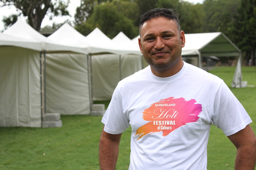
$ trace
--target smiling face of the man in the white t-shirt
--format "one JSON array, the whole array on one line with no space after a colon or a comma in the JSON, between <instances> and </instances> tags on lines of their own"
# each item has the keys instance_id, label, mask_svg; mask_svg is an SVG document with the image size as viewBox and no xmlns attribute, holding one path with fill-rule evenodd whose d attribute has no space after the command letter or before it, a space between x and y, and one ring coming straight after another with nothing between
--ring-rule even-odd
<instances>
[{"instance_id":1,"label":"smiling face of the man in the white t-shirt","mask_svg":"<svg viewBox=\"0 0 256 170\"><path fill-rule=\"evenodd\" d=\"M154 70L168 71L182 61L185 37L175 21L164 17L148 20L140 28L140 36L140 51Z\"/></svg>"}]
</instances>

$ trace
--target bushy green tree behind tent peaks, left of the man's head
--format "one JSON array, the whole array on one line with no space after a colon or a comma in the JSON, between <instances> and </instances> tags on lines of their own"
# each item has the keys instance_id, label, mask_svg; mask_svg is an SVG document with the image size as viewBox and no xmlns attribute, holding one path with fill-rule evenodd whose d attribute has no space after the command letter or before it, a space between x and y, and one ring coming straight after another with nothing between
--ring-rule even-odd
<instances>
[{"instance_id":1,"label":"bushy green tree behind tent peaks, left of the man's head","mask_svg":"<svg viewBox=\"0 0 256 170\"><path fill-rule=\"evenodd\" d=\"M88 35L92 30L98 27L110 38L114 38L120 31L129 38L134 38L139 34L138 26L134 26L134 21L124 16L125 14L129 15L129 12L125 11L132 9L129 8L123 11L121 7L124 6L119 3L112 1L96 5L87 21L75 25L75 29L83 35ZM128 7L134 6L131 5L127 6L127 8Z\"/></svg>"}]
</instances>

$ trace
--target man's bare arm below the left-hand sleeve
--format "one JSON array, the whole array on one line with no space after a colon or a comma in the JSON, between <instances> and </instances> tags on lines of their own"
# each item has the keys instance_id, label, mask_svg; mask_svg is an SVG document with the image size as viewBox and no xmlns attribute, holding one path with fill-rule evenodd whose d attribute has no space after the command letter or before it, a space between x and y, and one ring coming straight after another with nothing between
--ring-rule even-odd
<instances>
[{"instance_id":1,"label":"man's bare arm below the left-hand sleeve","mask_svg":"<svg viewBox=\"0 0 256 170\"><path fill-rule=\"evenodd\" d=\"M116 169L116 162L119 152L119 142L121 139L121 135L121 133L117 135L109 134L102 130L99 139L100 170Z\"/></svg>"}]
</instances>

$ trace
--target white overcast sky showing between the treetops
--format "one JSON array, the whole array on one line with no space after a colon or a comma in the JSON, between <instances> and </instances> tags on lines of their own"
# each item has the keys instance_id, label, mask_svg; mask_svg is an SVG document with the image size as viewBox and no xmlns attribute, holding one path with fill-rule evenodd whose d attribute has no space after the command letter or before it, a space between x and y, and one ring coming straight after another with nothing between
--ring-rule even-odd
<instances>
[{"instance_id":1,"label":"white overcast sky showing between the treetops","mask_svg":"<svg viewBox=\"0 0 256 170\"><path fill-rule=\"evenodd\" d=\"M203 0L186 0L186 1L192 2L194 4L203 2ZM2 5L1 2L0 2L0 5ZM42 21L41 27L45 27L46 25L52 25L53 22L55 22L56 24L61 23L61 22L64 22L65 20L67 20L67 19L73 21L74 20L74 15L75 15L75 10L76 10L76 7L78 7L78 6L80 6L80 0L70 1L68 10L69 10L69 13L72 15L72 17L67 17L67 16L54 17L53 20L50 21L49 17L45 16L45 18ZM2 31L4 29L4 24L2 22L3 17L4 16L8 17L9 15L16 14L16 13L17 13L17 11L16 11L16 8L14 6L10 6L10 7L5 6L5 7L0 8L0 20L1 20L0 21L0 31ZM23 20L24 20L24 18L23 18Z\"/></svg>"}]
</instances>

